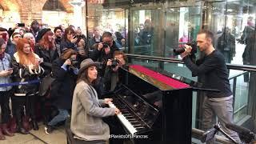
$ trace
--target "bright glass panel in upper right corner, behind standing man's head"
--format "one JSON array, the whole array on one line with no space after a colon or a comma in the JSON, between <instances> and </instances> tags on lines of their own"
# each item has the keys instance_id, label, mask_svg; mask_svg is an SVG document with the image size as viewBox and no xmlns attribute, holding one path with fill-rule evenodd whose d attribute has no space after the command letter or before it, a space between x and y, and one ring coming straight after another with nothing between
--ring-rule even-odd
<instances>
[{"instance_id":1,"label":"bright glass panel in upper right corner, behind standing man's head","mask_svg":"<svg viewBox=\"0 0 256 144\"><path fill-rule=\"evenodd\" d=\"M214 46L227 63L255 65L255 7L253 1L214 2L209 4L210 30Z\"/></svg>"}]
</instances>

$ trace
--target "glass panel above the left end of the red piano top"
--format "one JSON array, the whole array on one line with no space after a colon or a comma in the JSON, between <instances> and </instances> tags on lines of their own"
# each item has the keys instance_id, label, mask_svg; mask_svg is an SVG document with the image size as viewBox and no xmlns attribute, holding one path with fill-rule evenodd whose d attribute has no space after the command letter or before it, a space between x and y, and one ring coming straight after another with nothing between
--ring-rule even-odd
<instances>
[{"instance_id":1,"label":"glass panel above the left end of the red piano top","mask_svg":"<svg viewBox=\"0 0 256 144\"><path fill-rule=\"evenodd\" d=\"M160 56L161 18L159 9L132 10L130 53Z\"/></svg>"}]
</instances>

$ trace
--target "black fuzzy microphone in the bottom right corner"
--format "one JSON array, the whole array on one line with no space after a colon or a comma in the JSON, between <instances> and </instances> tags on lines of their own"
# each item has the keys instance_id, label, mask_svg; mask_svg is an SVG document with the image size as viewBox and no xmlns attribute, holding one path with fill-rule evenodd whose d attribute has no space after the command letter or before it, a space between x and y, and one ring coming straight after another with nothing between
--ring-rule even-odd
<instances>
[{"instance_id":1,"label":"black fuzzy microphone in the bottom right corner","mask_svg":"<svg viewBox=\"0 0 256 144\"><path fill-rule=\"evenodd\" d=\"M233 123L226 123L226 128L237 132L245 142L251 142L256 139L256 134L245 127L234 125Z\"/></svg>"}]
</instances>

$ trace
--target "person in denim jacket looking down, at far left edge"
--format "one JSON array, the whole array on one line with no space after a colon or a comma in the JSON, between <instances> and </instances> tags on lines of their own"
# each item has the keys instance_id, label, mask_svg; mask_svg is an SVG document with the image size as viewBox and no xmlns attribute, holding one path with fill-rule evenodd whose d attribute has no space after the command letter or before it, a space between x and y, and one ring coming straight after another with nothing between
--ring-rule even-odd
<instances>
[{"instance_id":1,"label":"person in denim jacket looking down, at far left edge","mask_svg":"<svg viewBox=\"0 0 256 144\"><path fill-rule=\"evenodd\" d=\"M11 66L11 58L9 54L5 53L6 42L0 38L0 83L11 83L11 74L13 70ZM0 106L1 106L1 126L0 126L0 140L6 139L4 135L14 136L13 133L7 127L7 123L10 121L10 107L9 99L13 94L11 91L12 86L0 87Z\"/></svg>"}]
</instances>

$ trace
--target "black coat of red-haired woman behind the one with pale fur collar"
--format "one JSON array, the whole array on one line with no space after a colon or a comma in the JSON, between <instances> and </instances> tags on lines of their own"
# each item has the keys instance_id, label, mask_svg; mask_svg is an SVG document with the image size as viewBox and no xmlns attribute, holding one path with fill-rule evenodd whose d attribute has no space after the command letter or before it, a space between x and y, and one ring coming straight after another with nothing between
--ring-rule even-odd
<instances>
[{"instance_id":1,"label":"black coat of red-haired woman behind the one with pale fur collar","mask_svg":"<svg viewBox=\"0 0 256 144\"><path fill-rule=\"evenodd\" d=\"M58 51L56 50L45 50L42 49L42 46L36 45L34 47L34 53L38 54L40 58L43 58L43 62L40 64L42 68L45 70L45 74L50 74L52 62L58 58Z\"/></svg>"}]
</instances>

